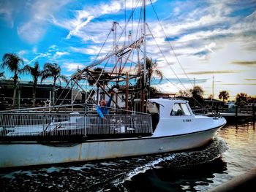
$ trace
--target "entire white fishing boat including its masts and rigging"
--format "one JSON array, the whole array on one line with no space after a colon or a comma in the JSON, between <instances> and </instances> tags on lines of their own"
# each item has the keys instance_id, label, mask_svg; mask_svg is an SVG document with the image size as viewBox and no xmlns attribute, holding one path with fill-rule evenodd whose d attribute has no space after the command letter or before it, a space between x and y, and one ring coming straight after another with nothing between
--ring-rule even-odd
<instances>
[{"instance_id":1,"label":"entire white fishing boat including its masts and rigging","mask_svg":"<svg viewBox=\"0 0 256 192\"><path fill-rule=\"evenodd\" d=\"M85 69L78 70L65 88L69 87L69 91L72 91L77 86L83 90L83 85L79 85L80 80L93 81L97 97L99 88L108 97L109 90L120 88L118 82L125 82L125 96L121 99L124 106L118 103L116 91L114 105L109 107L109 115L102 119L96 112L98 99L95 101L92 94L87 94L85 90L86 101L83 104L65 104L67 96L59 96L62 99L59 104L58 98L47 107L3 111L0 113L0 168L189 150L206 145L225 125L225 118L195 115L186 100L151 99L147 95L147 88L150 88L146 75L147 25L146 11L141 11L146 9L145 1L140 7L136 5L132 8L131 15L136 8L144 14L143 23L138 25L143 30L137 30L141 34L125 33L131 21L129 17L120 33L120 37L121 34L129 34L128 41L118 46L118 39L121 38L116 38L118 23L114 22L110 29L110 33L114 33L111 42L114 42L113 49ZM153 34L151 37L154 39ZM108 38L105 42L108 42ZM144 47L142 61L139 57L141 47ZM96 66L110 66L109 61L113 67L108 72L105 68L94 69ZM140 77L125 71L135 71L132 67L135 61L138 61ZM131 91L129 81L132 78L137 82L137 88ZM113 81L112 88L108 90L107 81Z\"/></svg>"}]
</instances>

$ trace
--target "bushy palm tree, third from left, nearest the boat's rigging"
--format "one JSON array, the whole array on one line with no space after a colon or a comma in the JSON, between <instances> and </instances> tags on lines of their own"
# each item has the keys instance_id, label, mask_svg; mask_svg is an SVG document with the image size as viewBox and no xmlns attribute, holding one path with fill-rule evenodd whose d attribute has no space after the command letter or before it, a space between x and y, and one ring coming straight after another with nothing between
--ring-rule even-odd
<instances>
[{"instance_id":1,"label":"bushy palm tree, third from left, nearest the boat's rigging","mask_svg":"<svg viewBox=\"0 0 256 192\"><path fill-rule=\"evenodd\" d=\"M58 64L46 63L44 65L44 69L42 70L41 82L48 78L53 78L53 104L55 104L56 81L59 80L59 83L61 85L61 80L63 80L64 82L68 82L68 78L65 75L61 74L61 67L58 66Z\"/></svg>"}]
</instances>

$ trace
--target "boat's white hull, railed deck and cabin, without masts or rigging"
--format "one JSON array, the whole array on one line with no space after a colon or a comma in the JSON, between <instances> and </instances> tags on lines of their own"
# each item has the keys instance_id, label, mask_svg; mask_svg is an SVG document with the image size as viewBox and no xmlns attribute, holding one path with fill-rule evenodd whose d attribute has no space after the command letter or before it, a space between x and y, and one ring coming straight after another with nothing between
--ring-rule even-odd
<instances>
[{"instance_id":1,"label":"boat's white hull, railed deck and cabin, without masts or rigging","mask_svg":"<svg viewBox=\"0 0 256 192\"><path fill-rule=\"evenodd\" d=\"M148 99L148 113L2 113L0 167L60 164L189 150L206 145L225 118L194 115L185 100Z\"/></svg>"}]
</instances>

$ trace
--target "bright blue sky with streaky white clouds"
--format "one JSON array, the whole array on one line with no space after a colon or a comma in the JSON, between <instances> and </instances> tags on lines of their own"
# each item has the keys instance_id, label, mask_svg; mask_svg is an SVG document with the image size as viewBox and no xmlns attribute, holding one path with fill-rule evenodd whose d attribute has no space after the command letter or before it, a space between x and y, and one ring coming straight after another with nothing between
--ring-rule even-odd
<instances>
[{"instance_id":1,"label":"bright blue sky with streaky white clouds","mask_svg":"<svg viewBox=\"0 0 256 192\"><path fill-rule=\"evenodd\" d=\"M16 53L25 65L38 61L41 69L57 63L70 76L110 52L112 34L105 40L113 22L121 31L136 7L135 23L140 5L136 0L1 0L0 57ZM241 92L256 96L255 0L146 1L146 23L146 55L165 77L152 82L160 91L176 93L195 84L205 97L217 98L224 90L230 99ZM129 31L135 38L135 24L127 24Z\"/></svg>"}]
</instances>

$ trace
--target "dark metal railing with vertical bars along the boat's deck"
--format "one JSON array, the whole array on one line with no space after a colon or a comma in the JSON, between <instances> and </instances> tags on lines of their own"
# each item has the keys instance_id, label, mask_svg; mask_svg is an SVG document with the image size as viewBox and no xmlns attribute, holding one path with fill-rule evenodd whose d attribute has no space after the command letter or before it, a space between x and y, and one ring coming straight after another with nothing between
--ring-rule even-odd
<instances>
[{"instance_id":1,"label":"dark metal railing with vertical bars along the boat's deck","mask_svg":"<svg viewBox=\"0 0 256 192\"><path fill-rule=\"evenodd\" d=\"M151 134L151 116L97 114L31 113L15 112L0 114L0 141L7 138L40 137L59 138L72 136L111 136L118 134Z\"/></svg>"}]
</instances>

